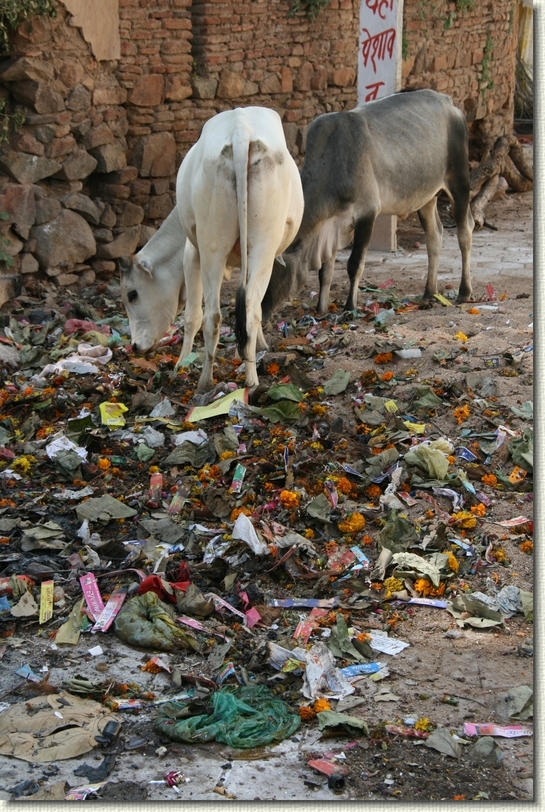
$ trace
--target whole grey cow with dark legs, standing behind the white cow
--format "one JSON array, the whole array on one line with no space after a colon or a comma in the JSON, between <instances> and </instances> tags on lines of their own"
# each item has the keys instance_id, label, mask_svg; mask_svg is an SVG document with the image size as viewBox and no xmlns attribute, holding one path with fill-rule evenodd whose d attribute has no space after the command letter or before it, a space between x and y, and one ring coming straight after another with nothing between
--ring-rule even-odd
<instances>
[{"instance_id":1,"label":"whole grey cow with dark legs, standing behind the white cow","mask_svg":"<svg viewBox=\"0 0 545 812\"><path fill-rule=\"evenodd\" d=\"M433 90L398 93L345 113L318 116L308 130L301 172L305 211L299 232L275 262L263 318L319 271L318 312L327 310L337 250L353 241L346 310L357 307L358 283L379 214L416 211L426 234L424 298L437 293L443 226L437 194L450 198L462 253L458 301L471 295L473 216L469 208L468 134L463 113Z\"/></svg>"}]
</instances>

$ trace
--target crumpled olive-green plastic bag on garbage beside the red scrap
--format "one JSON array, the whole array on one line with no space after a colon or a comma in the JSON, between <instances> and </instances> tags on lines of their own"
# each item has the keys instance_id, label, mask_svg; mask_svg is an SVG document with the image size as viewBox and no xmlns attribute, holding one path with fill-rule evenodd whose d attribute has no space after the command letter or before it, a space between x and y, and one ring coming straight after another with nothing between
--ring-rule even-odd
<instances>
[{"instance_id":1,"label":"crumpled olive-green plastic bag on garbage beside the red scrap","mask_svg":"<svg viewBox=\"0 0 545 812\"><path fill-rule=\"evenodd\" d=\"M174 611L161 603L154 592L146 592L129 601L115 620L115 633L130 646L172 651L198 644L175 621Z\"/></svg>"}]
</instances>

